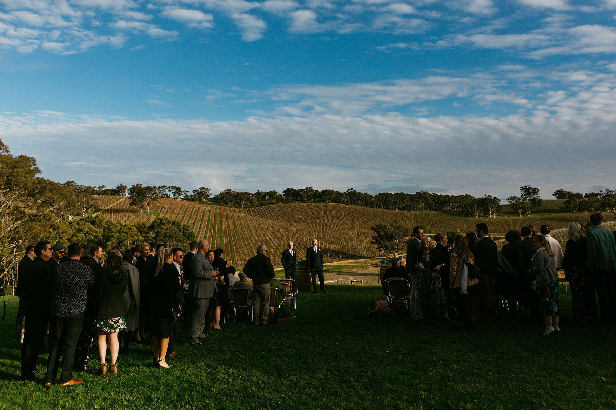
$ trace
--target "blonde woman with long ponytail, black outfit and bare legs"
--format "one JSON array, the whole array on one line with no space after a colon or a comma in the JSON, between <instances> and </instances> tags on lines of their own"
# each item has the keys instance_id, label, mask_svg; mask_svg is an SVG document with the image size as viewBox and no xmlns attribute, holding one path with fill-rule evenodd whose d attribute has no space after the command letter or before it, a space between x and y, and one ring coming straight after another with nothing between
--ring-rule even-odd
<instances>
[{"instance_id":1,"label":"blonde woman with long ponytail, black outfit and bare legs","mask_svg":"<svg viewBox=\"0 0 616 410\"><path fill-rule=\"evenodd\" d=\"M173 254L166 247L159 249L156 257L158 266L152 286L152 321L150 333L154 345L152 364L156 368L169 368L165 361L169 337L174 336L174 322L180 312L178 294L182 284L177 278L177 269L171 263Z\"/></svg>"}]
</instances>

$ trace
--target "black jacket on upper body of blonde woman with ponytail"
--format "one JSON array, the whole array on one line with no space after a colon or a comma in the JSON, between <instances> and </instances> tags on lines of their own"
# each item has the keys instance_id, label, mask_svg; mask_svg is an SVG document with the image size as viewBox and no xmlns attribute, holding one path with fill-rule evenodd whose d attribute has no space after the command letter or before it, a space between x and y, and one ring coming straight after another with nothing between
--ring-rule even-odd
<instances>
[{"instance_id":1,"label":"black jacket on upper body of blonde woman with ponytail","mask_svg":"<svg viewBox=\"0 0 616 410\"><path fill-rule=\"evenodd\" d=\"M179 312L179 292L182 290L177 280L177 269L173 263L165 263L155 276L152 284L152 316L155 318L173 317L171 311Z\"/></svg>"}]
</instances>

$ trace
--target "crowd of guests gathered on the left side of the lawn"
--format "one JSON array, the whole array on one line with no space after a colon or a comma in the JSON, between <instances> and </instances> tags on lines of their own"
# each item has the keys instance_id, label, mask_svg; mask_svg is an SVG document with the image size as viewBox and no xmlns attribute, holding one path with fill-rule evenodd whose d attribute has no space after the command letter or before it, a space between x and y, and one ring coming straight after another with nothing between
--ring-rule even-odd
<instances>
[{"instance_id":1,"label":"crowd of guests gathered on the left side of the lawn","mask_svg":"<svg viewBox=\"0 0 616 410\"><path fill-rule=\"evenodd\" d=\"M257 247L238 276L235 267L227 267L223 249L209 249L205 239L189 247L184 255L180 248L142 243L123 254L111 251L103 264L97 245L89 255L79 244L28 246L18 264L15 292L22 380L40 379L47 386L81 383L73 379L73 370L91 369L94 340L100 374L118 372L118 355L129 353L131 340L151 343L152 365L169 368L166 360L177 355L174 343L182 325L190 344L200 344L211 329L221 329L221 308L228 318L235 314L233 289L251 289L254 299L247 304L254 305L254 322L268 323L270 286L285 287L274 279L266 246ZM35 374L46 336L47 371Z\"/></svg>"}]
</instances>

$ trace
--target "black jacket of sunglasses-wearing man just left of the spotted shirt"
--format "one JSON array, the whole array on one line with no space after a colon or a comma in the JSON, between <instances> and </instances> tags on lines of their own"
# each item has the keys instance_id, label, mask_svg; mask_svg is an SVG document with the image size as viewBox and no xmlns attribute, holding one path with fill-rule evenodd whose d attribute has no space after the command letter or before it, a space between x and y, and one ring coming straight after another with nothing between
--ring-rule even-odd
<instances>
[{"instance_id":1,"label":"black jacket of sunglasses-wearing man just left of the spotted shirt","mask_svg":"<svg viewBox=\"0 0 616 410\"><path fill-rule=\"evenodd\" d=\"M26 320L28 315L49 315L54 283L49 265L41 257L36 257L28 264L25 289Z\"/></svg>"}]
</instances>

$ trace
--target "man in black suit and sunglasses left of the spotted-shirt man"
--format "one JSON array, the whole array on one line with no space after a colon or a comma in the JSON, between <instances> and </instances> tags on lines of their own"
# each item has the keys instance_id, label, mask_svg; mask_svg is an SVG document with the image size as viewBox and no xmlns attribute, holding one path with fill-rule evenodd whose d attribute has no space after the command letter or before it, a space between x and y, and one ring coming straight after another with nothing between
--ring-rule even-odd
<instances>
[{"instance_id":1,"label":"man in black suit and sunglasses left of the spotted-shirt man","mask_svg":"<svg viewBox=\"0 0 616 410\"><path fill-rule=\"evenodd\" d=\"M51 313L52 278L47 261L51 259L51 244L41 241L34 247L36 259L30 262L26 271L23 294L26 297L26 326L22 345L22 380L42 379L35 375L47 323Z\"/></svg>"}]
</instances>

